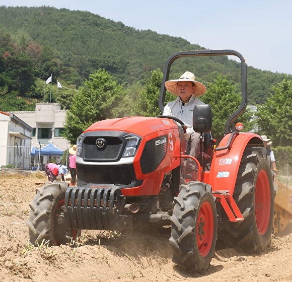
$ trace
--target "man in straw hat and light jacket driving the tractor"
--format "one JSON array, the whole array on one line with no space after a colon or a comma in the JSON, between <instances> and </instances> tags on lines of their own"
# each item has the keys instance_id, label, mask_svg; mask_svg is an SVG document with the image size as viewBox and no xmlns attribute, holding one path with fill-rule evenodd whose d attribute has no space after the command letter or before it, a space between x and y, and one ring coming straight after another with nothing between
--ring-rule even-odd
<instances>
[{"instance_id":1,"label":"man in straw hat and light jacket driving the tractor","mask_svg":"<svg viewBox=\"0 0 292 282\"><path fill-rule=\"evenodd\" d=\"M177 99L167 103L164 108L164 115L171 115L180 119L188 128L185 133L187 140L186 155L197 158L200 153L200 133L193 129L193 110L194 106L204 104L197 97L206 92L206 87L196 81L195 75L185 72L177 80L165 82L166 89L177 96Z\"/></svg>"}]
</instances>

